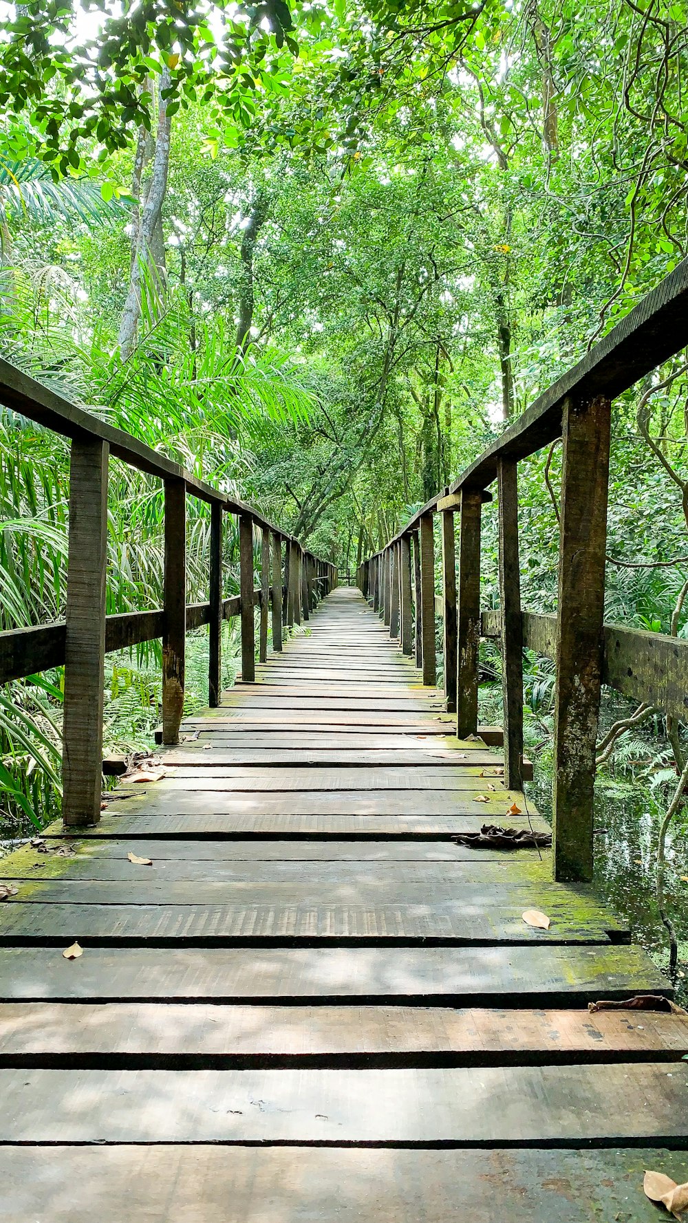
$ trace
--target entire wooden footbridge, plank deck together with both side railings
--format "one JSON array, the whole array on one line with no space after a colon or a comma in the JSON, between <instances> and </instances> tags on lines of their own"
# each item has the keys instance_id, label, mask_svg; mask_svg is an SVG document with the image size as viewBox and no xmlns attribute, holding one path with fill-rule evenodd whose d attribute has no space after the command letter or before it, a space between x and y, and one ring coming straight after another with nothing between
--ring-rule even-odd
<instances>
[{"instance_id":1,"label":"entire wooden footbridge, plank deck together with both side railings","mask_svg":"<svg viewBox=\"0 0 688 1223\"><path fill-rule=\"evenodd\" d=\"M688 703L686 642L602 621L611 397L684 345L687 305L682 265L361 565L360 589L0 369L9 406L73 439L66 623L0 635L1 680L65 664L65 824L2 862L0 1223L649 1223L643 1168L688 1178L688 1021L588 1009L672 996L589 878L601 682L675 717ZM547 618L520 608L515 465L559 434ZM109 453L165 482L164 607L126 616L105 615ZM495 479L501 612L481 615ZM187 495L213 531L192 607ZM231 615L242 676L222 693ZM211 702L182 722L202 624ZM481 632L503 651L503 758L477 725ZM104 652L157 636L160 766L103 802ZM455 839L545 832L522 786L524 645L557 659L551 854Z\"/></svg>"}]
</instances>

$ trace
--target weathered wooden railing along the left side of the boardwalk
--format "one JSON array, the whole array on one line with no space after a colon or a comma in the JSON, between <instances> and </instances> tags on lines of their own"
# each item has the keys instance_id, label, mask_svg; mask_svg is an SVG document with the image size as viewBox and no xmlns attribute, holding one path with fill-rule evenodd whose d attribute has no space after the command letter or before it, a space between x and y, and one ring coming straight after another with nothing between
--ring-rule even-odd
<instances>
[{"instance_id":1,"label":"weathered wooden railing along the left side of the boardwalk","mask_svg":"<svg viewBox=\"0 0 688 1223\"><path fill-rule=\"evenodd\" d=\"M220 698L222 623L241 618L241 678L255 680L255 607L258 658L264 662L268 613L272 643L283 626L307 620L317 599L337 585L333 564L305 550L251 505L218 492L122 429L114 428L0 361L0 402L71 438L66 619L0 632L0 682L65 667L62 813L66 824L100 818L103 670L110 651L163 640L163 742L179 742L184 707L185 634L209 625L208 692ZM164 484L163 607L105 615L108 462L115 455ZM209 600L186 604L186 497L211 506ZM222 594L223 515L239 519L240 594ZM253 585L253 533L261 532L261 586ZM283 560L284 544L284 560Z\"/></svg>"}]
</instances>

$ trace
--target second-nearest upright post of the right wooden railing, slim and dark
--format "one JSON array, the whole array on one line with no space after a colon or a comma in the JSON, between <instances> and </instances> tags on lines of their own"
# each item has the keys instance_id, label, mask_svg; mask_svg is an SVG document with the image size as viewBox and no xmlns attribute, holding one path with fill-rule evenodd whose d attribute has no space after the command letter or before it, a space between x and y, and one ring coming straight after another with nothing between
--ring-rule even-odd
<instances>
[{"instance_id":1,"label":"second-nearest upright post of the right wooden railing, slim and dark","mask_svg":"<svg viewBox=\"0 0 688 1223\"><path fill-rule=\"evenodd\" d=\"M518 476L513 459L497 459L499 497L499 603L502 607L502 692L504 785L523 789L523 620L518 547Z\"/></svg>"}]
</instances>

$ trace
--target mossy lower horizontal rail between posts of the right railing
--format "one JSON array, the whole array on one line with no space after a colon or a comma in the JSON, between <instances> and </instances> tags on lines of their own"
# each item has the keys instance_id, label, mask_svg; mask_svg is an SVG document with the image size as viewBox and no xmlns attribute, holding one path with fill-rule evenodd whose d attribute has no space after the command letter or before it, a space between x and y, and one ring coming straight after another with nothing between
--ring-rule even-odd
<instances>
[{"instance_id":1,"label":"mossy lower horizontal rail between posts of the right railing","mask_svg":"<svg viewBox=\"0 0 688 1223\"><path fill-rule=\"evenodd\" d=\"M525 648L556 658L556 615L523 612L522 618ZM501 637L501 612L482 612L481 635ZM644 702L683 720L688 717L688 641L605 624L602 651L602 684L638 704Z\"/></svg>"}]
</instances>

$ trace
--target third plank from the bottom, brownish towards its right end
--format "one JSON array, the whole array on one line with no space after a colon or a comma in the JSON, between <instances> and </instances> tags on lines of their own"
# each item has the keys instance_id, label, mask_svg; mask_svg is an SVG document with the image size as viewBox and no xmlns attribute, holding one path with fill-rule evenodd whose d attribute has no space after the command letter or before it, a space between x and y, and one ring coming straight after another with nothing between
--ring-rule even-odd
<instances>
[{"instance_id":1,"label":"third plank from the bottom, brownish towards its right end","mask_svg":"<svg viewBox=\"0 0 688 1223\"><path fill-rule=\"evenodd\" d=\"M679 1015L436 1007L246 1007L165 1003L0 1004L0 1065L86 1069L676 1063ZM170 1065L170 1059L173 1065Z\"/></svg>"}]
</instances>

